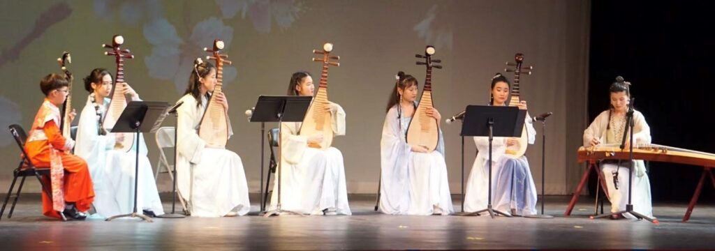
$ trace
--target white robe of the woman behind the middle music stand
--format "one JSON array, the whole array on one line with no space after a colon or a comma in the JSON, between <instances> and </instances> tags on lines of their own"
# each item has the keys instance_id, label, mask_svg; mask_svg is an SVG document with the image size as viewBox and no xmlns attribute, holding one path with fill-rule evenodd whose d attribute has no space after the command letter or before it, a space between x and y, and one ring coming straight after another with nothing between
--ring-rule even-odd
<instances>
[{"instance_id":1,"label":"white robe of the woman behind the middle music stand","mask_svg":"<svg viewBox=\"0 0 715 251\"><path fill-rule=\"evenodd\" d=\"M281 209L310 215L335 209L340 215L352 215L347 203L345 164L337 148L309 148L307 135L298 135L302 122L281 124ZM334 135L345 135L345 111L332 111ZM275 175L269 210L278 203L278 173Z\"/></svg>"}]
</instances>

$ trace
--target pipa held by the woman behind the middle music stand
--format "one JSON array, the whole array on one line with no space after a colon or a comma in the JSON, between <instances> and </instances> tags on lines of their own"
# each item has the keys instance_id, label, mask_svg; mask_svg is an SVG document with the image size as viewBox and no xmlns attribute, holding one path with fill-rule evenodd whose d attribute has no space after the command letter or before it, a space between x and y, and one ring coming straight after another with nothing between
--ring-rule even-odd
<instances>
[{"instance_id":1,"label":"pipa held by the woman behind the middle music stand","mask_svg":"<svg viewBox=\"0 0 715 251\"><path fill-rule=\"evenodd\" d=\"M305 113L303 123L300 125L299 135L313 135L322 133L322 141L320 143L308 143L308 147L325 150L332 145L334 133L332 131L332 113L327 110L329 103L327 101L327 68L329 66L340 66L340 63L333 60L339 60L340 56L330 56L332 51L332 43L325 43L323 51L313 50L313 53L322 55L322 58L313 58L313 61L322 62L322 72L320 73L320 83L317 87L317 93L313 98L308 111Z\"/></svg>"}]
</instances>

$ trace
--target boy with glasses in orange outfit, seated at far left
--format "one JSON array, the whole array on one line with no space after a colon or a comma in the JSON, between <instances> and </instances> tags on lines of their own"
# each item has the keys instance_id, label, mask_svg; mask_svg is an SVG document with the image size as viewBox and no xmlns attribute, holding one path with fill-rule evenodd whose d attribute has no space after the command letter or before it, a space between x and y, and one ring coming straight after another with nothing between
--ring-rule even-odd
<instances>
[{"instance_id":1,"label":"boy with glasses in orange outfit, seated at far left","mask_svg":"<svg viewBox=\"0 0 715 251\"><path fill-rule=\"evenodd\" d=\"M50 198L42 193L43 214L59 218L58 212L62 212L67 217L84 220L94 200L92 178L87 162L69 153L74 140L64 138L59 130L59 106L69 94L68 86L66 78L56 73L42 78L40 89L45 99L30 128L25 150L33 165L50 168L51 177L44 177L43 183L52 195ZM74 111L70 117L74 119Z\"/></svg>"}]
</instances>

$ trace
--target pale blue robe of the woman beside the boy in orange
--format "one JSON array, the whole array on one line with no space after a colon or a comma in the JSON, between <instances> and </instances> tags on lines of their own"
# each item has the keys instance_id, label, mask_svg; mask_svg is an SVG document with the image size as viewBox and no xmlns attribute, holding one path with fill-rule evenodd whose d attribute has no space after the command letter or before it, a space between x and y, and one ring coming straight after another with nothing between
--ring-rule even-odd
<instances>
[{"instance_id":1,"label":"pale blue robe of the woman beside the boy in orange","mask_svg":"<svg viewBox=\"0 0 715 251\"><path fill-rule=\"evenodd\" d=\"M99 106L102 114L106 112L109 99ZM137 142L134 133L134 145L129 152L114 150L114 133L99 135L97 112L88 98L79 116L77 124L77 144L74 153L87 160L89 175L94 183L94 209L102 217L122 215L134 211L134 175L137 160ZM139 134L139 180L137 180L137 210L152 210L156 215L164 214L162 201L159 199L157 183L154 181L152 164L147 158L147 145L144 135Z\"/></svg>"}]
</instances>

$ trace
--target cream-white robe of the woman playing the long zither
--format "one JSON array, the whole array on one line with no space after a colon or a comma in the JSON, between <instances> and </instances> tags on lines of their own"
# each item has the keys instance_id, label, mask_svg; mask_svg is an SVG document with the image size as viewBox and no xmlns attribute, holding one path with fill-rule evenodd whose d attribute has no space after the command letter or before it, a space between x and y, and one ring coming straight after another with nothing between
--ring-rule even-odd
<instances>
[{"instance_id":1,"label":"cream-white robe of the woman playing the long zither","mask_svg":"<svg viewBox=\"0 0 715 251\"><path fill-rule=\"evenodd\" d=\"M648 123L646 123L646 118L643 116L643 113L634 111L633 121L633 142L636 144L651 143L651 128L648 126ZM608 138L607 133L613 130L613 128L606 130L608 123L608 111L603 111L593 120L593 123L583 131L583 146L591 146L591 140L593 140L593 138L598 138L601 143L620 145L620 139L617 140L618 142L606 142ZM628 128L625 128L625 130L630 133ZM651 182L646 173L646 165L643 160L633 160L633 163L635 164L635 168L633 168L633 210L648 217L653 217ZM618 189L616 189L613 184L613 173L615 170L618 170ZM626 210L626 204L628 203L628 160L621 161L620 168L618 168L618 161L603 161L601 162L601 172L603 172L603 179L606 180L608 199L611 200L611 212ZM636 218L630 213L623 214L623 216L629 219Z\"/></svg>"}]
</instances>

